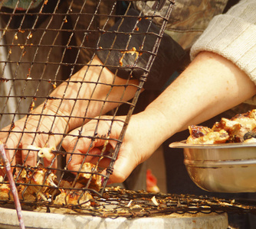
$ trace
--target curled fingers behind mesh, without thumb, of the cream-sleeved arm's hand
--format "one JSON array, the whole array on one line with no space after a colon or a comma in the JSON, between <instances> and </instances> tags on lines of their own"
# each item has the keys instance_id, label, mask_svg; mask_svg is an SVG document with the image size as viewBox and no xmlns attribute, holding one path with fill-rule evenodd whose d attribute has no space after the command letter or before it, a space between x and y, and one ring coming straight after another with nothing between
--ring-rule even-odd
<instances>
[{"instance_id":1,"label":"curled fingers behind mesh, without thumb, of the cream-sleeved arm's hand","mask_svg":"<svg viewBox=\"0 0 256 229\"><path fill-rule=\"evenodd\" d=\"M110 131L111 124L112 129ZM84 124L82 128L71 131L62 142L62 147L68 153L76 153L72 156L67 155L67 167L79 169L80 164L84 162L107 167L110 164L110 158L107 158L107 154L113 152L116 147L117 140L114 139L118 139L120 130L120 124L113 124L106 118L105 121L100 122L97 120L90 121ZM95 134L96 131L97 135Z\"/></svg>"}]
</instances>

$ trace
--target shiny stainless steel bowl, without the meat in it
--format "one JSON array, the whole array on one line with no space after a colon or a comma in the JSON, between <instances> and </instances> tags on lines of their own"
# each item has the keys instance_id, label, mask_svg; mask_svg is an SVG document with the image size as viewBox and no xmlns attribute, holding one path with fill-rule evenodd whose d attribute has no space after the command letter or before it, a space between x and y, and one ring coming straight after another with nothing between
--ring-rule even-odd
<instances>
[{"instance_id":1,"label":"shiny stainless steel bowl, without the meat in it","mask_svg":"<svg viewBox=\"0 0 256 229\"><path fill-rule=\"evenodd\" d=\"M184 149L190 178L209 192L256 192L256 144L193 145L175 142Z\"/></svg>"}]
</instances>

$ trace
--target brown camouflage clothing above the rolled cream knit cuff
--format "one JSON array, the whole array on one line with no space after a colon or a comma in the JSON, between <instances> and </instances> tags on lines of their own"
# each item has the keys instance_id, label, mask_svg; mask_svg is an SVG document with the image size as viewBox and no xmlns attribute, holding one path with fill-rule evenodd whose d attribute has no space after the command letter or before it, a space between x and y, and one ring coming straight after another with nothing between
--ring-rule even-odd
<instances>
[{"instance_id":1,"label":"brown camouflage clothing above the rolled cream knit cuff","mask_svg":"<svg viewBox=\"0 0 256 229\"><path fill-rule=\"evenodd\" d=\"M166 15L169 3L160 0L159 5L162 2L166 3L162 4L157 14ZM176 0L166 27L166 34L169 34L185 50L189 50L212 18L222 14L227 3L228 0ZM153 8L156 7L156 2L138 1L135 7L146 15L150 15L154 13ZM162 19L155 18L155 23L162 24Z\"/></svg>"}]
</instances>

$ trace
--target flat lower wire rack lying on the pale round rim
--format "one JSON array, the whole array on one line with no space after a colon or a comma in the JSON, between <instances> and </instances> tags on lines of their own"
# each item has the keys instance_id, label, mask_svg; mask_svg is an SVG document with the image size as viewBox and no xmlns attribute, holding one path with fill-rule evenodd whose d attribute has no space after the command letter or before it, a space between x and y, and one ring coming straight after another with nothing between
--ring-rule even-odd
<instances>
[{"instance_id":1,"label":"flat lower wire rack lying on the pale round rim","mask_svg":"<svg viewBox=\"0 0 256 229\"><path fill-rule=\"evenodd\" d=\"M2 202L3 208L12 208L11 202ZM256 214L255 201L250 199L225 199L205 195L176 195L132 191L120 187L107 187L102 196L95 195L90 207L81 205L52 205L50 202L25 205L29 211L84 214L100 218L162 217L170 214Z\"/></svg>"}]
</instances>

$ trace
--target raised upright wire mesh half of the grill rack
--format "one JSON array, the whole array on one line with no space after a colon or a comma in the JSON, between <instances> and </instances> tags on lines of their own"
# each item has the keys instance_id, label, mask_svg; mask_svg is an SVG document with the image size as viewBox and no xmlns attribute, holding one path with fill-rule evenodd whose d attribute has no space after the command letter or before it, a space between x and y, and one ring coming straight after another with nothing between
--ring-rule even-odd
<instances>
[{"instance_id":1,"label":"raised upright wire mesh half of the grill rack","mask_svg":"<svg viewBox=\"0 0 256 229\"><path fill-rule=\"evenodd\" d=\"M147 2L152 9L149 15L146 15ZM92 195L103 195L174 2L141 1L141 13L129 15L134 4L133 1L90 0L1 2L0 133L11 155L21 203L49 205L59 198L56 205L69 206L71 198L76 198L73 206L87 208ZM136 21L129 33L120 30L127 18ZM110 30L118 20L119 26ZM139 31L137 25L143 20L148 21L149 27ZM149 30L154 20L162 22L158 33ZM107 34L115 37L110 48L101 43ZM116 46L118 34L128 37L123 49ZM130 40L138 34L143 37L141 43L129 49ZM148 37L156 40L151 50L144 48ZM97 53L102 51L107 51L105 63L95 61ZM112 51L120 53L117 66L108 62ZM132 65L123 63L125 55L133 56ZM142 55L148 55L147 63L144 67L136 66ZM115 69L111 82L105 80L110 68ZM122 83L117 82L120 69L129 70L129 76ZM133 79L135 69L141 73L139 83ZM116 91L118 96L113 96ZM127 95L129 91L133 92L132 97ZM117 114L122 105L129 108L120 120ZM110 123L107 135L98 133L103 120ZM95 121L95 126L91 134L84 136L83 124L88 121ZM119 137L112 139L110 132L114 123L122 128ZM75 127L80 127L77 134L70 134ZM67 152L61 144L68 136L77 137L77 141L73 150ZM87 153L77 153L80 139L91 141ZM91 153L100 140L105 144L97 148L97 153ZM110 147L110 140L116 142L116 147ZM48 147L53 148L49 151ZM36 153L44 154L41 149L45 148L51 158L42 160L37 156L34 159ZM80 162L75 169L69 167L74 158ZM94 158L92 164L87 164L88 158ZM107 166L101 166L103 160L107 160ZM1 201L12 201L5 174L1 184Z\"/></svg>"}]
</instances>

